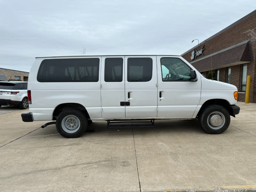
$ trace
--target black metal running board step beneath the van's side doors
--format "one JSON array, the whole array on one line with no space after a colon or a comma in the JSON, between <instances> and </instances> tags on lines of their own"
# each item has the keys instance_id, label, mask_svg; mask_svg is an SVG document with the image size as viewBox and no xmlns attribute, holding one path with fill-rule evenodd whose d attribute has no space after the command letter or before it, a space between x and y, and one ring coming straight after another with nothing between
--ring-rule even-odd
<instances>
[{"instance_id":1,"label":"black metal running board step beneath the van's side doors","mask_svg":"<svg viewBox=\"0 0 256 192\"><path fill-rule=\"evenodd\" d=\"M125 123L125 124L124 124ZM131 123L131 124L128 124ZM145 123L145 124L144 124ZM146 120L107 120L107 127L113 128L113 127L154 127L155 126L155 120L149 119Z\"/></svg>"}]
</instances>

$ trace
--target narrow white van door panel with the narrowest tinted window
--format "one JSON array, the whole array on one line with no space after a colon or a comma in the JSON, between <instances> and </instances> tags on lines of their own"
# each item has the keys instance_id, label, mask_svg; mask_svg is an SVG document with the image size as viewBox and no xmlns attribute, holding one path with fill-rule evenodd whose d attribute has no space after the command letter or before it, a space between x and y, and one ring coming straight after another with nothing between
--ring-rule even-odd
<instances>
[{"instance_id":1,"label":"narrow white van door panel with the narrowest tinted window","mask_svg":"<svg viewBox=\"0 0 256 192\"><path fill-rule=\"evenodd\" d=\"M102 57L101 67L102 118L124 118L124 56Z\"/></svg>"}]
</instances>

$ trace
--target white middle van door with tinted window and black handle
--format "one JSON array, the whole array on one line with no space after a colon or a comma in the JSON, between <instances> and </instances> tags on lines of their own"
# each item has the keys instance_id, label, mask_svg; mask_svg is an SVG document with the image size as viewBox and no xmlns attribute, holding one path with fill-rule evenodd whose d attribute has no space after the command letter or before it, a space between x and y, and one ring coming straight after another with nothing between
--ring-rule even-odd
<instances>
[{"instance_id":1,"label":"white middle van door with tinted window and black handle","mask_svg":"<svg viewBox=\"0 0 256 192\"><path fill-rule=\"evenodd\" d=\"M156 56L125 56L125 117L157 116Z\"/></svg>"}]
</instances>

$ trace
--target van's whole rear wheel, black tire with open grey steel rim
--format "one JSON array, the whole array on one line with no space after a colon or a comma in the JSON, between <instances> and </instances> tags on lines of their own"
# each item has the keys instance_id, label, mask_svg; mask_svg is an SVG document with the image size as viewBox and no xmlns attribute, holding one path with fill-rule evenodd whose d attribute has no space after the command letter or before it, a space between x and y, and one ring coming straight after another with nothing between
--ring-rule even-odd
<instances>
[{"instance_id":1,"label":"van's whole rear wheel, black tire with open grey steel rim","mask_svg":"<svg viewBox=\"0 0 256 192\"><path fill-rule=\"evenodd\" d=\"M85 132L87 125L86 116L78 109L64 110L56 119L57 131L66 138L80 137Z\"/></svg>"}]
</instances>

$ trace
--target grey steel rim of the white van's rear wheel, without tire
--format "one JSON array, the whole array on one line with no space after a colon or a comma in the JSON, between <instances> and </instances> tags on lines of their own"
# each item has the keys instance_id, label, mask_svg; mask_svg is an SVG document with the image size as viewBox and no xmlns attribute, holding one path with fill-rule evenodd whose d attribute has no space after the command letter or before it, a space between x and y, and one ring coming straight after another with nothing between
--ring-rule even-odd
<instances>
[{"instance_id":1,"label":"grey steel rim of the white van's rear wheel, without tire","mask_svg":"<svg viewBox=\"0 0 256 192\"><path fill-rule=\"evenodd\" d=\"M80 120L74 115L68 115L62 119L61 126L65 132L74 133L80 128Z\"/></svg>"}]
</instances>

